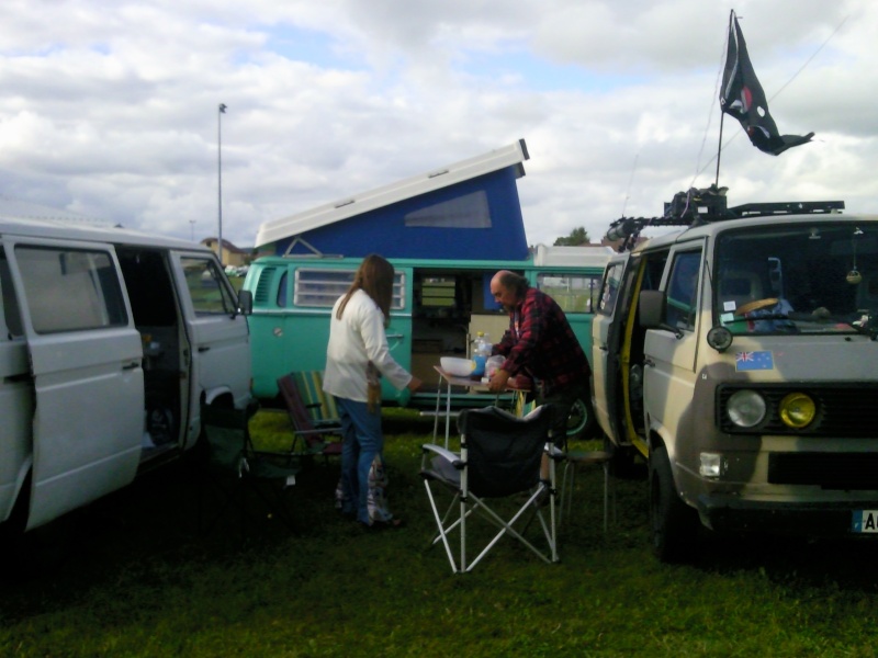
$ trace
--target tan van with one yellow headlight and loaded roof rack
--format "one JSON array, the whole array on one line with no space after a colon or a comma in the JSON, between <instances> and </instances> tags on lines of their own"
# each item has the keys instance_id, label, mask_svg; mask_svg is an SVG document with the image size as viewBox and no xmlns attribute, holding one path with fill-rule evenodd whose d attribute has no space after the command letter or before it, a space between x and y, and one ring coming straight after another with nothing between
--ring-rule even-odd
<instances>
[{"instance_id":1,"label":"tan van with one yellow headlight and loaded roof rack","mask_svg":"<svg viewBox=\"0 0 878 658\"><path fill-rule=\"evenodd\" d=\"M654 552L700 526L878 536L878 216L688 201L614 225L688 226L610 260L593 322L595 413L619 467L649 462Z\"/></svg>"}]
</instances>

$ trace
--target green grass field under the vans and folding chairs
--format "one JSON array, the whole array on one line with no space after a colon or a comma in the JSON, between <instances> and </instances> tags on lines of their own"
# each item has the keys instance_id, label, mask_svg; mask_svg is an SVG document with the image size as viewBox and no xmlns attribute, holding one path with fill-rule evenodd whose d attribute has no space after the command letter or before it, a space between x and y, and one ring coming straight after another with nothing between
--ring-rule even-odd
<instances>
[{"instance_id":1,"label":"green grass field under the vans and folding chairs","mask_svg":"<svg viewBox=\"0 0 878 658\"><path fill-rule=\"evenodd\" d=\"M196 530L199 487L179 464L27 537L0 585L3 656L874 656L870 543L706 537L691 565L649 553L646 487L619 483L601 529L603 475L577 475L562 563L510 542L452 576L428 548L417 476L432 423L389 413L401 531L362 534L333 509L338 465L290 491L297 531L258 514ZM263 444L289 439L261 411ZM259 508L254 506L254 510ZM9 563L8 563L9 564Z\"/></svg>"}]
</instances>

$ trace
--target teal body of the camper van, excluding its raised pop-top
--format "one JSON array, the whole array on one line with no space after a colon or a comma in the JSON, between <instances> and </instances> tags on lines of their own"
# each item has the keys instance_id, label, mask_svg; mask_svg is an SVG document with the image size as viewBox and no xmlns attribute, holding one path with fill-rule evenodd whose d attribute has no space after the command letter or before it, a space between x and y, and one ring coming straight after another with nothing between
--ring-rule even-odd
<instances>
[{"instance_id":1,"label":"teal body of the camper van, excluding its raised pop-top","mask_svg":"<svg viewBox=\"0 0 878 658\"><path fill-rule=\"evenodd\" d=\"M508 316L491 296L491 279L498 270L513 270L549 293L589 353L593 305L610 256L599 247L539 246L525 261L390 259L396 270L387 327L391 353L426 383L413 404L435 404L434 366L441 356L469 358L480 332L499 342L508 329ZM257 397L273 398L278 377L290 371L324 368L329 313L360 262L267 257L251 265L244 288L254 294L249 322ZM399 401L399 393L386 384L383 395L386 401Z\"/></svg>"}]
</instances>

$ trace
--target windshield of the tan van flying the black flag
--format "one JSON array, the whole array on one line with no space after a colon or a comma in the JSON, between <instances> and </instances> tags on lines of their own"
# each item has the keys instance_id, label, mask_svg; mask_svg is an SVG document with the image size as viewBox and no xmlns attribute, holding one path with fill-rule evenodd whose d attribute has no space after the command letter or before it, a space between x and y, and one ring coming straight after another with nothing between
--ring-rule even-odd
<instances>
[{"instance_id":1,"label":"windshield of the tan van flying the black flag","mask_svg":"<svg viewBox=\"0 0 878 658\"><path fill-rule=\"evenodd\" d=\"M878 226L835 219L718 239L714 321L732 333L874 333Z\"/></svg>"}]
</instances>

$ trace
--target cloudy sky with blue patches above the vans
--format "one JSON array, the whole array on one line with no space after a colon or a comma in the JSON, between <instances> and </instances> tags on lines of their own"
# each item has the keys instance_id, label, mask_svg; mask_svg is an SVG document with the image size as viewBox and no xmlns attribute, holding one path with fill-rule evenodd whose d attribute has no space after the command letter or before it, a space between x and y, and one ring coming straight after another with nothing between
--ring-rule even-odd
<instances>
[{"instance_id":1,"label":"cloudy sky with blue patches above the vans","mask_svg":"<svg viewBox=\"0 0 878 658\"><path fill-rule=\"evenodd\" d=\"M730 204L878 212L874 0L3 0L0 195L200 240L221 137L247 247L524 138L528 241L599 239L713 182L731 9L780 133L815 137L773 157L727 121Z\"/></svg>"}]
</instances>

